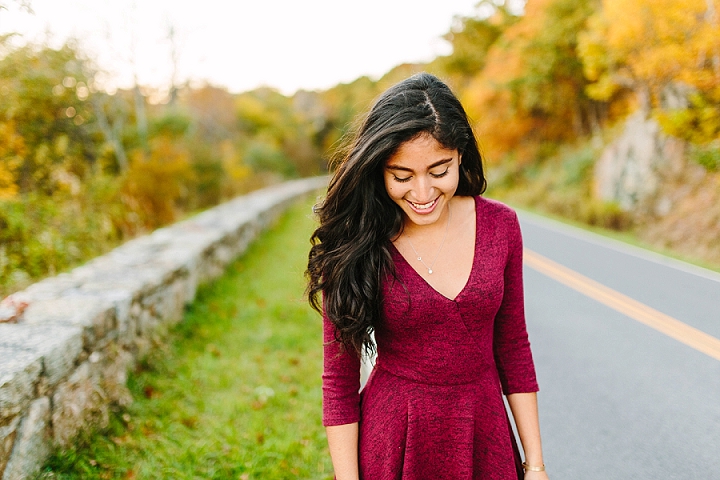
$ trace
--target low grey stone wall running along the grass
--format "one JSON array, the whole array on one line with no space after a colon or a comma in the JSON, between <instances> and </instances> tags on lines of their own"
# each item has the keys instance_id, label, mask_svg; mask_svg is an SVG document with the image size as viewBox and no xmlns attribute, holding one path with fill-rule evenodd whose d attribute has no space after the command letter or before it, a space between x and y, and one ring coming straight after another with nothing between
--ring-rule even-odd
<instances>
[{"instance_id":1,"label":"low grey stone wall running along the grass","mask_svg":"<svg viewBox=\"0 0 720 480\"><path fill-rule=\"evenodd\" d=\"M239 197L3 300L0 477L32 478L54 448L131 401L126 375L313 178ZM7 312L10 314L7 314ZM14 313L13 313L14 312Z\"/></svg>"}]
</instances>

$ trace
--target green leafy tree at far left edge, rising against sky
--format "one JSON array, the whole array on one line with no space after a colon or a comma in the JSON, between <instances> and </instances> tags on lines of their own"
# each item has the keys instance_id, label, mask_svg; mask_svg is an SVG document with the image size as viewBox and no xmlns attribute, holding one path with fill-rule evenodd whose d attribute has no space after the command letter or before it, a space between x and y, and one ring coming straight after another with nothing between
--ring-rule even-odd
<instances>
[{"instance_id":1,"label":"green leafy tree at far left edge, rising against sky","mask_svg":"<svg viewBox=\"0 0 720 480\"><path fill-rule=\"evenodd\" d=\"M28 45L0 58L0 126L22 139L15 178L21 192L51 194L68 178L88 174L98 147L89 127L88 65L73 44L57 50Z\"/></svg>"}]
</instances>

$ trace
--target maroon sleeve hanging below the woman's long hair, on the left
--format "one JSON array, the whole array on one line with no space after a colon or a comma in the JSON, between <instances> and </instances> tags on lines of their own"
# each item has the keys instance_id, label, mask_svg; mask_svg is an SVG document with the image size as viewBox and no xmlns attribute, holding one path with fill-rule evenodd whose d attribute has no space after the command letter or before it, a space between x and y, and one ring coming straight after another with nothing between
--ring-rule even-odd
<instances>
[{"instance_id":1,"label":"maroon sleeve hanging below the woman's long hair, on the left","mask_svg":"<svg viewBox=\"0 0 720 480\"><path fill-rule=\"evenodd\" d=\"M360 359L335 340L335 326L323 315L323 425L360 420Z\"/></svg>"}]
</instances>

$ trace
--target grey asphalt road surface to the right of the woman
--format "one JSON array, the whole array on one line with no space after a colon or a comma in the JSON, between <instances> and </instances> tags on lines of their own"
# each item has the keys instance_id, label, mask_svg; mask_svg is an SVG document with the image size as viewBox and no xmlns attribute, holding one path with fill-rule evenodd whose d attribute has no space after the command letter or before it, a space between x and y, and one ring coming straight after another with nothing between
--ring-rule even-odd
<instances>
[{"instance_id":1,"label":"grey asphalt road surface to the right of the woman","mask_svg":"<svg viewBox=\"0 0 720 480\"><path fill-rule=\"evenodd\" d=\"M720 339L720 275L520 220L531 253ZM720 479L719 359L528 264L525 292L551 480Z\"/></svg>"}]
</instances>

